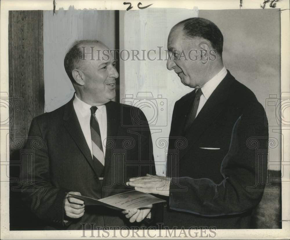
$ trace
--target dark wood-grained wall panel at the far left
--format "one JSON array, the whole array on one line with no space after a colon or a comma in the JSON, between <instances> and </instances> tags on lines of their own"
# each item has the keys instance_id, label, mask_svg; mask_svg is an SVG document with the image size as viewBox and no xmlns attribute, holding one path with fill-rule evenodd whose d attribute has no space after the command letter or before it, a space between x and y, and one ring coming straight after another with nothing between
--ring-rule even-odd
<instances>
[{"instance_id":1,"label":"dark wood-grained wall panel at the far left","mask_svg":"<svg viewBox=\"0 0 290 240\"><path fill-rule=\"evenodd\" d=\"M8 39L11 142L44 112L43 11L10 11Z\"/></svg>"}]
</instances>

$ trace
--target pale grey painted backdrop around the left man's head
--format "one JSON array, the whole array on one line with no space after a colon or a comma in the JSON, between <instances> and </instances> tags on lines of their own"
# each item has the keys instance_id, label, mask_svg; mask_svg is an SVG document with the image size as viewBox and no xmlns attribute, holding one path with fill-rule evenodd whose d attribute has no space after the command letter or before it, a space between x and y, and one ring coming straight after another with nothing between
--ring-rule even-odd
<instances>
[{"instance_id":1,"label":"pale grey painted backdrop around the left man's head","mask_svg":"<svg viewBox=\"0 0 290 240\"><path fill-rule=\"evenodd\" d=\"M115 11L44 11L44 90L45 112L67 103L75 92L64 69L64 57L77 40L97 39L115 48Z\"/></svg>"}]
</instances>

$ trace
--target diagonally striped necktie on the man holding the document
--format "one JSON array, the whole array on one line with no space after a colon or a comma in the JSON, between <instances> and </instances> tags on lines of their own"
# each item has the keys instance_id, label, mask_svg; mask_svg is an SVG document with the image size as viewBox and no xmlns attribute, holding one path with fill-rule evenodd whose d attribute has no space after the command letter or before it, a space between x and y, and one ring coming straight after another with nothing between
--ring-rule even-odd
<instances>
[{"instance_id":1,"label":"diagonally striped necktie on the man holding the document","mask_svg":"<svg viewBox=\"0 0 290 240\"><path fill-rule=\"evenodd\" d=\"M90 108L91 110L90 129L93 147L93 162L94 168L98 176L104 177L105 156L103 151L100 127L95 115L97 109L98 108L96 106L92 106Z\"/></svg>"}]
</instances>

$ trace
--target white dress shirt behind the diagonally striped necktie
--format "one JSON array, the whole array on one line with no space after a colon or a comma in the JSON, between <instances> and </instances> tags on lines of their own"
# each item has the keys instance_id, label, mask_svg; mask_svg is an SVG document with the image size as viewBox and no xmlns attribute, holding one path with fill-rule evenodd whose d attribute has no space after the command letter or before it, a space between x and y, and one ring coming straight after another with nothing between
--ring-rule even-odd
<instances>
[{"instance_id":1,"label":"white dress shirt behind the diagonally striped necktie","mask_svg":"<svg viewBox=\"0 0 290 240\"><path fill-rule=\"evenodd\" d=\"M91 132L90 132L90 116L91 116L90 108L92 106L81 101L81 99L79 99L77 95L75 95L75 99L73 100L73 107L75 108L75 113L77 114L77 119L79 120L79 124L81 125L81 130L83 131L86 142L88 144L88 147L90 148L90 152L93 157L92 137L91 137ZM100 127L104 156L106 156L105 155L106 154L106 141L104 141L107 138L106 106L101 105L101 106L97 106L97 108L98 109L95 114L96 114L96 118Z\"/></svg>"}]
</instances>

